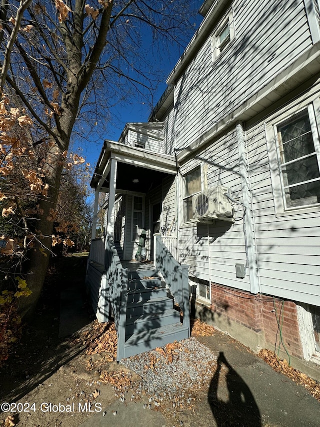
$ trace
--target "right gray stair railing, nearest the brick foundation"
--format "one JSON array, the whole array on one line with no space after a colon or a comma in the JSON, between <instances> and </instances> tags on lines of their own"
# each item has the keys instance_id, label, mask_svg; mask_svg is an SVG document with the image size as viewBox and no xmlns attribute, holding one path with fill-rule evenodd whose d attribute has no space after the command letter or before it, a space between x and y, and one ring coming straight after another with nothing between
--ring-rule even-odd
<instances>
[{"instance_id":1,"label":"right gray stair railing, nearest the brick foundation","mask_svg":"<svg viewBox=\"0 0 320 427\"><path fill-rule=\"evenodd\" d=\"M179 264L161 241L160 234L154 234L154 265L161 272L175 301L183 313L183 324L190 331L188 265Z\"/></svg>"}]
</instances>

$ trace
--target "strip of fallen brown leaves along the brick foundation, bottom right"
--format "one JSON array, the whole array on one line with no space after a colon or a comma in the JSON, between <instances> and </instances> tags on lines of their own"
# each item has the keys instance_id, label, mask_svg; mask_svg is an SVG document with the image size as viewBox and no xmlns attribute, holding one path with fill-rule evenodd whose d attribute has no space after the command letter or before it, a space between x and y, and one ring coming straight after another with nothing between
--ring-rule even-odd
<instances>
[{"instance_id":1,"label":"strip of fallen brown leaves along the brick foundation, bottom right","mask_svg":"<svg viewBox=\"0 0 320 427\"><path fill-rule=\"evenodd\" d=\"M314 379L308 377L304 373L289 366L285 359L280 359L273 351L263 348L259 351L258 356L261 357L268 365L276 372L281 372L297 384L302 384L313 397L320 401L320 384Z\"/></svg>"}]
</instances>

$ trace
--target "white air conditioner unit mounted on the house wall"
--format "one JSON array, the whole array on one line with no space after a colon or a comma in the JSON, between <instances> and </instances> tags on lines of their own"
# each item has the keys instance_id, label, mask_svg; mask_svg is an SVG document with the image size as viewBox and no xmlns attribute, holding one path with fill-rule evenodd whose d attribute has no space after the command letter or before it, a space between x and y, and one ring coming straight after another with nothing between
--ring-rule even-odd
<instances>
[{"instance_id":1,"label":"white air conditioner unit mounted on the house wall","mask_svg":"<svg viewBox=\"0 0 320 427\"><path fill-rule=\"evenodd\" d=\"M233 221L232 205L225 194L230 189L219 185L192 196L192 218L195 221L221 219Z\"/></svg>"}]
</instances>

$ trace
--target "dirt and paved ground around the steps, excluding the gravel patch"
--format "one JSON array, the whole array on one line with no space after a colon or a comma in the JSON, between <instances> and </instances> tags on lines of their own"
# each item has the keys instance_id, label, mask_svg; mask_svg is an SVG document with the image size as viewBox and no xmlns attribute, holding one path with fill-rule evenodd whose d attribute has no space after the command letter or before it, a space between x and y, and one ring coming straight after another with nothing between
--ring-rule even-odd
<instances>
[{"instance_id":1,"label":"dirt and paved ground around the steps, excluding the gravel patch","mask_svg":"<svg viewBox=\"0 0 320 427\"><path fill-rule=\"evenodd\" d=\"M11 404L11 410L15 410L11 411L11 418L8 418L8 412L0 413L1 427L77 427L85 421L88 422L87 425L91 425L90 417L98 415L100 418L93 424L102 425L98 422L101 422L104 408L110 408L116 415L117 410L114 408L121 405L121 399L126 401L126 405L133 400L137 403L136 406L141 407L142 403L143 408L150 406L150 413L153 412L154 416L157 415L155 412L164 416L164 421L158 421L158 425L167 427L317 425L317 421L313 423L312 417L304 422L301 421L306 419L304 415L294 413L294 408L301 412L298 408L300 404L303 408L309 407L310 413L318 410L320 406L306 391L305 384L298 386L289 379L290 375L293 375L290 369L284 366L287 370L286 377L276 374L270 366L240 343L198 322L193 325L193 334L197 335L199 343L207 345L210 351L216 354L217 360L214 362L214 369L212 368L213 376L203 381L203 384L190 394L191 403L183 407L173 405L175 408L172 409L171 401L170 405L163 403L156 407L153 400L149 403L149 396L137 395L136 385L141 377L114 360L116 342L113 325L97 323L90 306L85 302L81 307L73 304L74 309L81 310L80 318L71 316L70 320L70 317L60 316L60 312L63 312L60 310L60 304L72 298L74 289L84 293L85 268L86 257L77 254L63 257L51 264L35 315L32 321L24 326L22 340L15 346L10 358L0 370L0 402L16 403ZM69 292L70 283L72 292ZM63 296L62 300L60 295ZM73 332L71 336L68 334L70 331ZM161 357L166 358L165 363L170 363L172 358L174 361L174 354L178 350L177 343L157 351ZM265 358L271 360L271 355L266 353ZM154 356L149 357L149 368L155 363L154 360ZM270 364L272 363L275 364L274 360L271 360ZM269 379L271 377L272 379ZM305 378L305 382L307 381L311 380ZM218 394L214 391L217 383ZM261 390L262 383L263 387L269 387L272 383L273 390L281 396L278 403L275 395L267 397L267 392ZM316 391L317 385L312 381L310 384L312 390ZM258 399L259 410L250 389ZM236 397L236 390L241 390L246 398L249 412L243 410L241 400L231 398L231 393ZM287 394L286 398L284 394ZM53 406L50 406L49 402L53 402ZM57 402L60 406L54 406ZM6 406L2 406L2 409L5 411ZM113 419L119 422L120 418L115 416ZM107 416L103 420L106 422ZM132 425L115 422L112 424L121 427Z\"/></svg>"}]
</instances>

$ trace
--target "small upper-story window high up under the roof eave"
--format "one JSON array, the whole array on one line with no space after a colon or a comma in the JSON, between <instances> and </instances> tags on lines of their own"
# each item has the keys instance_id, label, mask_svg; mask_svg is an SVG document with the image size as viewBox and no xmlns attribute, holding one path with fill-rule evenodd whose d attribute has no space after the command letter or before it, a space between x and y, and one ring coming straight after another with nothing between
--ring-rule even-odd
<instances>
[{"instance_id":1,"label":"small upper-story window high up under the roof eave","mask_svg":"<svg viewBox=\"0 0 320 427\"><path fill-rule=\"evenodd\" d=\"M233 12L229 11L220 21L211 36L212 61L215 61L226 46L234 39Z\"/></svg>"}]
</instances>

